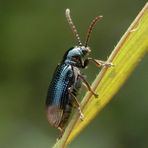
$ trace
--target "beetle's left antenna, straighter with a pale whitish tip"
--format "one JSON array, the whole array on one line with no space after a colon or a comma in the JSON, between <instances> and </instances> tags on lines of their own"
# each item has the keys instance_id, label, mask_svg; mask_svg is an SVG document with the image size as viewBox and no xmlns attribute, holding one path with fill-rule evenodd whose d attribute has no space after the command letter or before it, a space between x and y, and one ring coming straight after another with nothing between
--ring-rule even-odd
<instances>
[{"instance_id":1,"label":"beetle's left antenna, straighter with a pale whitish tip","mask_svg":"<svg viewBox=\"0 0 148 148\"><path fill-rule=\"evenodd\" d=\"M76 39L78 40L78 44L79 46L82 46L82 43L81 43L81 40L80 40L80 36L78 34L78 31L71 19L71 16L70 16L70 9L66 9L65 11L65 15L66 15L66 18L67 18L67 21L68 21L68 24L70 25L71 29L72 29L72 32L74 33L74 36L76 37Z\"/></svg>"}]
</instances>

